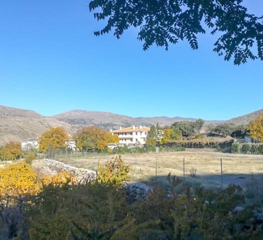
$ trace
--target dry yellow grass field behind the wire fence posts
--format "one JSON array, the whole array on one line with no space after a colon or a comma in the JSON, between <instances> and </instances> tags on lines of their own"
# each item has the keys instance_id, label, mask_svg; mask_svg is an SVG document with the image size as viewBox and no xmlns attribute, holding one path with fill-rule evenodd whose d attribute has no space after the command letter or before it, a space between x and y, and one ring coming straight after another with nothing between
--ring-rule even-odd
<instances>
[{"instance_id":1,"label":"dry yellow grass field behind the wire fence posts","mask_svg":"<svg viewBox=\"0 0 263 240\"><path fill-rule=\"evenodd\" d=\"M67 164L96 170L98 162L105 164L114 155L89 155L86 158L57 159ZM123 154L125 164L131 167L132 180L151 181L156 179L165 183L169 172L172 175L183 176L183 158L185 159L185 180L205 187L221 186L222 158L223 185L230 183L243 185L253 174L263 176L263 155L228 154L213 151L178 151L158 153ZM157 166L157 167L156 167ZM190 176L191 168L197 169L196 176Z\"/></svg>"}]
</instances>

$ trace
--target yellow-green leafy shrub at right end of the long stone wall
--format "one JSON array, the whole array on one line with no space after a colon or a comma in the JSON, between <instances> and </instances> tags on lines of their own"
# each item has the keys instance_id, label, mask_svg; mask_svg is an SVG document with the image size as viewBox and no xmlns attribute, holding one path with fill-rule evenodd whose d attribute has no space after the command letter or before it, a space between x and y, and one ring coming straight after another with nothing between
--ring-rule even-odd
<instances>
[{"instance_id":1,"label":"yellow-green leafy shrub at right end of the long stone wall","mask_svg":"<svg viewBox=\"0 0 263 240\"><path fill-rule=\"evenodd\" d=\"M98 182L106 185L122 186L123 181L128 181L130 167L124 164L121 156L113 157L105 166L98 166Z\"/></svg>"}]
</instances>

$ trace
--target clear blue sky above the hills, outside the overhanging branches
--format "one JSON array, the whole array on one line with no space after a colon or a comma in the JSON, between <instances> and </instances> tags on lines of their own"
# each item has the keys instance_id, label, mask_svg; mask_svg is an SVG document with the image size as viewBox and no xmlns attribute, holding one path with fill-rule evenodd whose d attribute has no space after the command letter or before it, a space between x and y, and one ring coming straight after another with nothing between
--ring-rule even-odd
<instances>
[{"instance_id":1,"label":"clear blue sky above the hills, outside the overhanging branches","mask_svg":"<svg viewBox=\"0 0 263 240\"><path fill-rule=\"evenodd\" d=\"M70 109L131 116L228 119L263 108L263 62L234 66L200 35L142 51L137 30L96 37L88 0L0 1L0 105L53 115ZM262 0L245 0L263 14Z\"/></svg>"}]
</instances>

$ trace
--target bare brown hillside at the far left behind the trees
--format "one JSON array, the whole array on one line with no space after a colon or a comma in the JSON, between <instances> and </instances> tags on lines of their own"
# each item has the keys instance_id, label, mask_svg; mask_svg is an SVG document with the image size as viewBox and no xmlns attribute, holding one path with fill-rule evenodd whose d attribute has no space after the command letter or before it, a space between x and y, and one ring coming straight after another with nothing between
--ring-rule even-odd
<instances>
[{"instance_id":1,"label":"bare brown hillside at the far left behind the trees","mask_svg":"<svg viewBox=\"0 0 263 240\"><path fill-rule=\"evenodd\" d=\"M32 110L0 105L0 146L8 141L20 141L39 136L54 126L62 126L70 133L75 127L52 117L45 117Z\"/></svg>"}]
</instances>

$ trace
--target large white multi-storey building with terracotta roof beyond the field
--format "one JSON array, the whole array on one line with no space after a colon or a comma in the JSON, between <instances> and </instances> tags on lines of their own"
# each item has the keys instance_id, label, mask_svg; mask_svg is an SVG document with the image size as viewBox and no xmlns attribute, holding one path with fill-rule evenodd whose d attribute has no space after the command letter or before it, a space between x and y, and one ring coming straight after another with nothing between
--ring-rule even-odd
<instances>
[{"instance_id":1,"label":"large white multi-storey building with terracotta roof beyond the field","mask_svg":"<svg viewBox=\"0 0 263 240\"><path fill-rule=\"evenodd\" d=\"M117 134L120 140L120 145L143 145L146 143L150 127L146 126L132 126L125 127L118 130L111 130L112 134Z\"/></svg>"}]
</instances>

